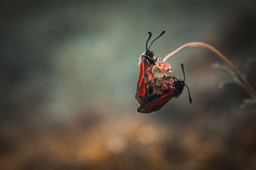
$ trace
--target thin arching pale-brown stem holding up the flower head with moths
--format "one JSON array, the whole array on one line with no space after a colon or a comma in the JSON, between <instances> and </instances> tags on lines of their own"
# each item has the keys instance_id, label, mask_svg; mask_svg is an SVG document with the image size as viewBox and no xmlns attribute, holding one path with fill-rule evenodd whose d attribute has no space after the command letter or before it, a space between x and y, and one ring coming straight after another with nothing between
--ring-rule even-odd
<instances>
[{"instance_id":1,"label":"thin arching pale-brown stem holding up the flower head with moths","mask_svg":"<svg viewBox=\"0 0 256 170\"><path fill-rule=\"evenodd\" d=\"M188 48L188 47L191 47L191 46L202 46L204 48L208 48L208 49L212 50L212 52L216 53L221 59L223 59L228 64L228 66L230 66L234 70L234 72L237 74L237 76L240 79L239 81L241 83L241 86L244 88L244 90L246 90L246 92L248 92L248 94L250 94L250 96L252 97L252 99L256 103L256 92L255 92L255 90L253 90L250 83L248 83L246 78L244 78L243 74L240 73L240 71L236 68L236 66L234 66L234 64L232 64L232 62L230 62L230 60L228 60L227 57L225 57L221 52L216 50L216 48L214 48L211 45L208 45L206 43L200 43L200 42L187 43L187 44L182 45L179 48L177 48L177 50L175 50L175 51L169 53L168 55L166 55L166 57L164 57L164 59L163 59L163 62L166 62L166 60L168 60L170 57L172 57L176 53L179 53L184 48Z\"/></svg>"}]
</instances>

